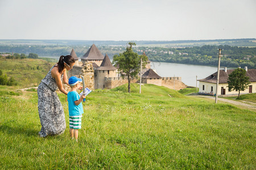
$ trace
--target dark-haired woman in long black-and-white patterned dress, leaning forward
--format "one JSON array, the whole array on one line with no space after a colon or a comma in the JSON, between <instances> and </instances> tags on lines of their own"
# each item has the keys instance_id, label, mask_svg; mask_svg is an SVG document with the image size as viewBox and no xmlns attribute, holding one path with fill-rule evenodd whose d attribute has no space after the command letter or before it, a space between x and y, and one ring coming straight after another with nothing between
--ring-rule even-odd
<instances>
[{"instance_id":1,"label":"dark-haired woman in long black-and-white patterned dress, leaning forward","mask_svg":"<svg viewBox=\"0 0 256 170\"><path fill-rule=\"evenodd\" d=\"M38 112L42 125L40 137L65 131L65 114L56 90L59 88L63 94L68 94L63 88L62 80L68 84L67 70L71 70L74 65L75 59L72 56L60 56L59 62L49 70L38 86Z\"/></svg>"}]
</instances>

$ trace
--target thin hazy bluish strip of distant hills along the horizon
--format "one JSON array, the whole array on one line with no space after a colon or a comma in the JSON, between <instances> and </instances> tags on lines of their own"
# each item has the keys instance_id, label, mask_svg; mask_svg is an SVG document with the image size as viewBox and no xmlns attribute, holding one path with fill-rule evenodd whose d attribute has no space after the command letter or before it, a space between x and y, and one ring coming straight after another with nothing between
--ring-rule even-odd
<instances>
[{"instance_id":1,"label":"thin hazy bluish strip of distant hills along the horizon","mask_svg":"<svg viewBox=\"0 0 256 170\"><path fill-rule=\"evenodd\" d=\"M131 40L132 41L132 40ZM131 41L93 41L93 40L0 40L1 45L121 45ZM220 39L220 40L175 40L175 41L132 41L138 46L203 46L230 45L256 46L256 39Z\"/></svg>"}]
</instances>

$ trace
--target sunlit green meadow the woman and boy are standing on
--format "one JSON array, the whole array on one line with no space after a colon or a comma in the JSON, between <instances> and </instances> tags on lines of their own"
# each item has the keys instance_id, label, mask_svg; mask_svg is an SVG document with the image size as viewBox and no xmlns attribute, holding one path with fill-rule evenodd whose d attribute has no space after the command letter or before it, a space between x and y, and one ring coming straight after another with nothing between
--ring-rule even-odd
<instances>
[{"instance_id":1,"label":"sunlit green meadow the woman and boy are standing on","mask_svg":"<svg viewBox=\"0 0 256 170\"><path fill-rule=\"evenodd\" d=\"M0 86L1 169L255 169L255 112L151 84L96 90L79 142L40 138L37 94ZM2 92L5 91L5 92ZM13 91L13 92L11 92ZM171 95L172 97L168 96Z\"/></svg>"}]
</instances>

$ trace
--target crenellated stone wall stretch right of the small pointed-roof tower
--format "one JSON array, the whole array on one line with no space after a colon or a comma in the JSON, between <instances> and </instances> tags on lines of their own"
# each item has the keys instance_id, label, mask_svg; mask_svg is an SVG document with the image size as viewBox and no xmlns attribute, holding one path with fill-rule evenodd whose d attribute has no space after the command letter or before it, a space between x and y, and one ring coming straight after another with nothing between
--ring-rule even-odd
<instances>
[{"instance_id":1,"label":"crenellated stone wall stretch right of the small pointed-roof tower","mask_svg":"<svg viewBox=\"0 0 256 170\"><path fill-rule=\"evenodd\" d=\"M163 77L162 86L168 87L174 90L187 88L187 85L181 82L181 77Z\"/></svg>"}]
</instances>

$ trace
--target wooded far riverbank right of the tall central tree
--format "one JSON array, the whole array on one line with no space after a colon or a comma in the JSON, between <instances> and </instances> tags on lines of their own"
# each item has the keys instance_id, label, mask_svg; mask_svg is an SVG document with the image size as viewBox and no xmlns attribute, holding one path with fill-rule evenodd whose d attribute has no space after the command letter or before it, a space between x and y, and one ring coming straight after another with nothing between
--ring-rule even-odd
<instances>
[{"instance_id":1,"label":"wooded far riverbank right of the tall central tree","mask_svg":"<svg viewBox=\"0 0 256 170\"><path fill-rule=\"evenodd\" d=\"M245 67L256 69L256 48L229 45L204 45L187 48L138 48L138 54L143 51L150 61L186 63L192 65L218 65L218 49L222 50L221 66Z\"/></svg>"}]
</instances>

